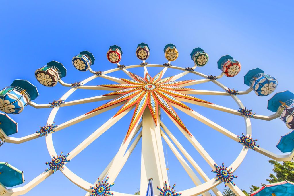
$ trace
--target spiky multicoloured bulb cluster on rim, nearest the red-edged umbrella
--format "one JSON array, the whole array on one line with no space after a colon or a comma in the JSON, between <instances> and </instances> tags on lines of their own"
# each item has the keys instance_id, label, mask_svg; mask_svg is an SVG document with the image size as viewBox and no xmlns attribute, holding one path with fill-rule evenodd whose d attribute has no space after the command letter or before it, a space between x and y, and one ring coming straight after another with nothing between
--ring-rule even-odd
<instances>
[{"instance_id":1,"label":"spiky multicoloured bulb cluster on rim, nearest the red-edged umbrella","mask_svg":"<svg viewBox=\"0 0 294 196\"><path fill-rule=\"evenodd\" d=\"M231 172L233 170L233 168L231 167L230 169L228 169L227 167L224 166L224 163L222 163L222 166L218 166L216 165L216 163L214 164L214 166L216 167L216 170L213 171L211 170L211 172L216 173L216 181L221 180L222 182L225 183L225 187L227 187L226 183L231 183L232 185L236 185L233 182L233 178L238 178L238 176L233 175Z\"/></svg>"}]
</instances>

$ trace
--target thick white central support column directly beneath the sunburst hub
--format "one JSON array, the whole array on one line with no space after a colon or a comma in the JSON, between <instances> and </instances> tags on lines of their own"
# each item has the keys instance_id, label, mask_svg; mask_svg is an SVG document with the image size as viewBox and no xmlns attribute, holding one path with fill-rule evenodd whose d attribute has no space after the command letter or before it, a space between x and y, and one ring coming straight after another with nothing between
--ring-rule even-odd
<instances>
[{"instance_id":1,"label":"thick white central support column directly beneath the sunburst hub","mask_svg":"<svg viewBox=\"0 0 294 196\"><path fill-rule=\"evenodd\" d=\"M157 122L156 126L148 108L143 113L142 121L141 195L146 194L149 178L153 178L154 193L159 195L156 187L162 188L164 182L168 182L160 124Z\"/></svg>"}]
</instances>

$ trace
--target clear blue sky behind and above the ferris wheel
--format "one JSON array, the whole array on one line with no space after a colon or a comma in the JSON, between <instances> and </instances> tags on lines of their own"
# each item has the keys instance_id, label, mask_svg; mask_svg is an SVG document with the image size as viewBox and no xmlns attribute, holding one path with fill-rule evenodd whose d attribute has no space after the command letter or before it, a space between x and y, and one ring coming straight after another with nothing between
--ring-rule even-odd
<instances>
[{"instance_id":1,"label":"clear blue sky behind and above the ferris wheel","mask_svg":"<svg viewBox=\"0 0 294 196\"><path fill-rule=\"evenodd\" d=\"M229 54L242 64L242 70L234 78L220 79L229 88L243 91L248 88L243 83L243 76L248 70L261 68L275 77L279 84L275 92L293 89L293 8L292 1L2 1L1 44L3 56L0 88L9 86L14 79L26 79L37 86L40 96L35 102L49 103L60 98L69 88L60 84L53 88L39 84L34 76L37 68L51 60L62 62L67 68L67 83L81 81L92 76L90 72L79 72L71 64L73 56L80 51L91 51L96 57L91 67L95 71L115 68L106 59L106 51L111 45L118 45L123 50L121 64L133 65L140 61L135 56L137 44L145 42L150 47L151 64L166 62L163 48L168 43L176 45L179 58L176 66L193 66L190 52L201 47L209 55L209 63L197 68L207 75L219 75L217 61L220 56ZM291 57L292 56L292 57ZM5 58L4 58L5 57ZM160 69L149 68L151 75ZM134 69L143 74L143 68ZM179 72L169 71L167 75ZM122 72L109 74L115 77L127 76ZM200 79L193 74L184 79ZM90 85L109 83L98 78ZM193 86L195 89L221 89L213 83ZM105 92L77 90L68 100L76 100L102 95ZM229 96L198 96L213 103L229 108L238 106ZM261 115L270 115L267 110L267 97L258 97L251 92L240 96L248 109ZM78 115L98 107L104 102L88 103L61 108L55 123L61 124ZM236 135L245 131L243 118L225 114L212 109L189 105L193 110L210 118ZM57 152L70 152L94 130L108 120L119 108L96 116L77 125L53 134ZM10 115L19 124L19 133L13 137L22 137L39 130L46 124L51 109L35 109L27 106L21 114ZM238 156L242 145L226 138L217 131L208 128L188 115L178 112L186 126L220 165L230 165ZM67 166L78 176L94 182L106 165L116 154L130 122L131 114L116 123L88 148L76 156ZM206 171L210 178L215 175L183 135L176 129L166 115L163 122L170 128L191 156ZM252 137L258 144L274 153L281 135L290 130L280 119L270 122L252 119ZM141 147L140 142L118 175L113 190L134 193L140 186ZM176 190L193 187L185 170L178 160L167 150L171 183L177 183ZM20 145L5 143L1 148L1 160L24 171L25 183L43 172L51 159L46 149L45 138L38 138ZM241 189L249 190L250 185L266 183L265 179L272 170L267 162L269 158L249 150L245 160L235 171L238 179L234 182ZM156 185L157 186L157 185ZM220 190L223 184L218 186ZM61 172L51 175L27 195L84 195L85 191L71 183Z\"/></svg>"}]
</instances>

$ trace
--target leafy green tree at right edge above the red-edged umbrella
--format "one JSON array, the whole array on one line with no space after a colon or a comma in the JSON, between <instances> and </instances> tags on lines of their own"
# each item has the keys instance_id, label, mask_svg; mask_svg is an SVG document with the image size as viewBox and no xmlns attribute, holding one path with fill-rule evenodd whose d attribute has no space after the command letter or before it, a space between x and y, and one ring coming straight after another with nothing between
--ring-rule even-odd
<instances>
[{"instance_id":1,"label":"leafy green tree at right edge above the red-edged umbrella","mask_svg":"<svg viewBox=\"0 0 294 196\"><path fill-rule=\"evenodd\" d=\"M284 161L282 164L275 160L269 160L268 162L273 165L275 175L270 173L268 176L270 179L266 179L266 181L270 183L283 180L294 182L294 164L291 161Z\"/></svg>"}]
</instances>

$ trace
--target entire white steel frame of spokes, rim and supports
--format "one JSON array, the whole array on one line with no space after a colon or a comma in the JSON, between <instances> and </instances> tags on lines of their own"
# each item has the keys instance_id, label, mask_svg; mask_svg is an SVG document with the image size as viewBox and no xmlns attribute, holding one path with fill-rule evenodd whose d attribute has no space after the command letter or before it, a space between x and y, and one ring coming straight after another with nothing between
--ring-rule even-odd
<instances>
[{"instance_id":1,"label":"entire white steel frame of spokes, rim and supports","mask_svg":"<svg viewBox=\"0 0 294 196\"><path fill-rule=\"evenodd\" d=\"M169 62L170 63L170 62ZM117 63L119 65L119 63ZM91 76L83 81L81 81L82 86L79 86L77 88L71 88L69 91L67 91L61 99L66 100L74 91L77 89L94 89L94 90L118 90L115 88L108 88L108 87L100 87L100 86L87 86L85 85L89 81L101 77L108 79L110 81L114 81L117 83L124 83L119 78L107 76L106 74L112 73L114 71L119 71L122 70L124 73L126 73L128 76L131 76L131 74L128 72L127 69L130 68L138 68L142 67L141 65L131 65L131 66L126 66L126 68L114 68L108 71L104 71L102 75L99 76ZM147 67L144 67L144 73L148 73ZM148 67L163 67L163 74L166 72L168 68L172 69L178 69L183 71L182 73L176 75L173 77L173 80L177 80L181 78L182 76L185 76L188 73L193 73L198 76L201 76L203 78L206 78L206 75L199 73L197 71L185 71L185 68L182 67L177 67L177 66L170 66L170 67L165 67L163 65L158 65L158 64L148 64ZM194 66L193 68L196 68ZM95 73L91 68L89 69L91 73ZM217 78L221 78L223 76L223 73L221 73ZM182 84L182 86L190 86L194 84L199 84L199 83L205 83L205 82L213 82L216 85L218 85L220 88L223 90L228 89L226 86L224 86L222 83L219 81L214 81L214 80L209 80L209 79L201 79L201 80L196 80L192 81L189 83ZM61 85L69 87L71 84L65 83L62 80L59 81ZM239 91L239 95L244 95L250 93L251 88L248 88L246 91ZM230 95L224 91L205 91L205 90L188 90L184 91L184 93L191 94L191 95L225 95L225 96L231 96L233 100L237 103L237 105L241 108L244 108L244 105L238 98L238 96L235 95ZM52 108L51 113L48 117L47 123L52 124L54 122L54 118L56 116L56 113L58 112L60 107L66 107L66 106L71 106L71 105L77 105L77 104L83 104L83 103L90 103L90 102L96 102L96 101L101 101L101 100L107 100L107 99L113 99L116 98L117 95L114 96L95 96L95 97L90 97L90 98L84 98L84 99L79 99L79 100L74 100L74 101L68 101L62 104L61 106ZM180 99L180 98L179 98ZM211 104L206 104L206 103L200 103L200 102L195 102L195 101L189 101L186 99L180 99L181 101L185 101L188 103L200 105L203 107L207 108L212 108L215 110L220 110L223 112L235 114L235 115L240 115L240 113L237 110L233 110L230 108L226 108L220 105L211 105ZM62 130L66 127L69 127L71 125L74 125L76 123L79 123L83 120L86 120L88 118L91 118L93 116L99 115L107 110L110 110L112 108L117 107L118 105L122 105L122 103L118 103L116 105L112 105L108 108L104 108L102 110L98 110L96 112L87 114L87 115L80 115L76 118L73 118L69 121L66 121L62 124L60 124L56 129L56 131ZM36 104L34 102L30 102L29 105L31 105L34 108L49 108L49 104ZM195 118L196 120L199 120L200 122L208 125L209 127L217 130L218 132L222 133L223 135L229 137L230 139L235 140L236 142L239 141L237 138L237 135L231 133L230 131L226 130L225 128L221 127L220 125L214 123L213 121L209 120L208 118L204 117L203 115L197 113L196 111L193 110L187 110L185 108L179 107L178 105L171 104L173 107L183 111L184 113L190 115L191 117ZM114 123L118 122L124 115L126 115L131 109L129 108L128 110L124 111L123 113L111 117L106 123L104 123L101 127L99 127L94 133L92 133L88 138L86 138L81 144L79 144L76 148L74 148L69 155L69 159L73 159L78 153L80 153L83 149L85 149L88 145L90 145L94 140L96 140L100 135L102 135L105 131L107 131ZM218 184L221 183L221 181L216 181L216 177L213 179L209 179L208 176L203 172L203 170L198 166L198 164L193 160L193 158L189 155L189 153L183 148L183 146L178 142L178 140L174 137L174 135L168 130L168 128L161 122L161 120L158 120L157 126L153 122L152 118L149 118L148 116L150 112L144 112L143 120L141 122L138 122L137 125L135 126L134 130L131 132L130 137L124 142L124 139L121 143L121 147L119 148L117 154L114 156L114 158L111 160L111 162L108 164L108 166L105 168L105 170L101 173L99 176L100 179L105 178L106 176L109 176L109 181L112 183L118 176L119 172L125 165L126 161L128 160L129 156L133 152L134 148L136 147L138 141L142 138L142 155L141 155L141 195L146 194L146 189L147 189L147 184L148 184L148 178L153 177L157 180L156 183L153 182L156 185L160 185L163 187L164 181L168 182L167 178L167 172L166 172L166 165L165 165L165 160L164 160L164 154L163 154L163 149L162 149L162 140L161 137L166 141L168 146L171 148L171 151L174 153L176 158L179 160L181 165L183 166L184 170L188 173L189 177L195 184L195 187L183 190L182 195L183 196L194 196L194 195L199 195L203 194L205 196L209 196L210 194L207 192L208 190L212 190L216 195L220 196L222 193L216 188ZM169 116L169 115L168 115ZM264 116L264 115L254 115L256 119L261 119L261 120L273 120L277 118L276 113L269 115L269 116ZM171 118L171 117L170 117ZM246 126L246 135L251 135L251 123L250 123L250 118L243 117L245 120L245 126ZM215 161L213 158L210 157L210 155L206 152L206 150L201 146L201 144L196 140L195 137L191 137L186 133L183 128L181 128L172 118L171 120L173 123L178 127L178 129L183 133L183 135L187 138L187 140L193 145L193 147L200 153L200 155L206 160L208 165L211 166L212 169L215 169L214 163ZM142 128L142 131L140 129ZM138 134L138 132L140 133ZM2 129L0 129L0 132L4 135L5 137L5 142L6 143L15 143L15 144L20 144L23 142L27 142L29 140L33 140L36 138L39 138L37 133L27 135L22 138L14 138L14 137L9 137L7 136ZM138 134L138 135L137 135ZM137 135L137 136L136 136ZM135 138L136 136L136 138ZM168 137L171 139L169 139ZM134 139L135 138L135 139ZM131 143L133 141L133 143ZM196 174L193 172L192 168L188 165L186 160L183 158L181 153L177 150L177 148L173 145L173 143L176 145L176 147L180 150L180 152L184 155L186 160L192 165L192 167L198 172L198 174L203 178L205 181L202 183ZM131 145L130 145L131 144ZM52 155L57 156L57 153L54 149L53 145L53 138L52 134L49 133L48 136L46 136L46 145L47 149L49 152L50 157ZM128 148L128 146L130 146ZM289 153L289 154L282 154L282 155L277 155L275 153L272 153L268 150L265 150L260 147L256 147L255 151L258 153L261 153L271 159L277 160L277 161L291 161L291 159L294 156L294 150ZM242 148L241 152L239 153L238 157L235 159L235 161L229 166L233 167L233 172L238 168L238 166L242 163L243 159L245 158L245 155L248 152L248 148L246 149L245 147ZM149 156L148 159L144 159L144 157ZM153 158L150 158L153 157ZM146 165L150 164L151 167L148 167ZM82 189L86 190L88 193L86 195L90 195L92 192L91 189L89 188L90 186L93 186L92 183L87 182L83 180L82 178L78 177L76 174L74 174L66 165L64 166L64 169L60 169L61 172L69 179L71 180L74 184L76 184L78 187L81 187ZM155 172L154 172L155 171ZM49 170L48 172L43 172L39 176L37 176L35 179L31 180L29 183L22 187L17 187L17 188L11 188L11 189L5 189L6 193L9 195L23 195L27 193L29 190L34 188L36 185L41 183L43 180L45 180L47 177L49 177L52 174L52 171ZM152 176L149 176L152 174ZM94 183L96 184L96 182ZM228 183L228 186L230 187L231 190L236 195L244 195L243 192L237 187L237 186L232 186L230 183ZM155 190L155 193L158 195L159 192ZM116 196L131 196L132 194L126 194L126 193L120 193L120 192L114 192L114 195Z\"/></svg>"}]
</instances>

